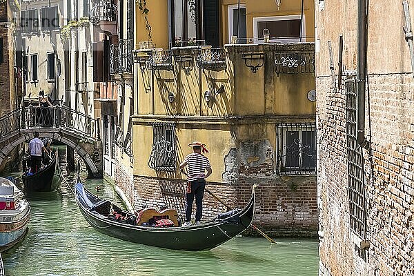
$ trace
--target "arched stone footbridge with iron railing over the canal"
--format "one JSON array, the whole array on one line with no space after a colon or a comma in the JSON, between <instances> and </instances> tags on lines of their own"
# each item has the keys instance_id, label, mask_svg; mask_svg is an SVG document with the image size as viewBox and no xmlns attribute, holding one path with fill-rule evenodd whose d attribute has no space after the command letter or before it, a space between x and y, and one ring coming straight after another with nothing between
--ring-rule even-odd
<instances>
[{"instance_id":1,"label":"arched stone footbridge with iron railing over the canal","mask_svg":"<svg viewBox=\"0 0 414 276\"><path fill-rule=\"evenodd\" d=\"M103 155L99 121L66 106L25 107L0 117L0 165L24 142L39 132L73 148L91 175L101 177Z\"/></svg>"}]
</instances>

